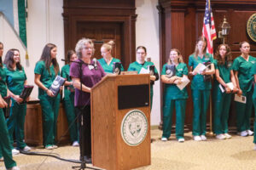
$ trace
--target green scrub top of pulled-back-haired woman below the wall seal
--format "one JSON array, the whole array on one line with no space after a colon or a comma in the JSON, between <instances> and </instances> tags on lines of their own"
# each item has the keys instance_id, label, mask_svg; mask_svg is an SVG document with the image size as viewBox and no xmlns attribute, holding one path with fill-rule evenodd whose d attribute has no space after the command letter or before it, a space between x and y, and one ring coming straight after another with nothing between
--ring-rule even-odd
<instances>
[{"instance_id":1,"label":"green scrub top of pulled-back-haired woman below the wall seal","mask_svg":"<svg viewBox=\"0 0 256 170\"><path fill-rule=\"evenodd\" d=\"M232 69L238 71L239 86L242 92L249 92L252 88L253 77L250 71L255 61L251 55L249 55L248 61L241 56L234 59Z\"/></svg>"}]
</instances>

